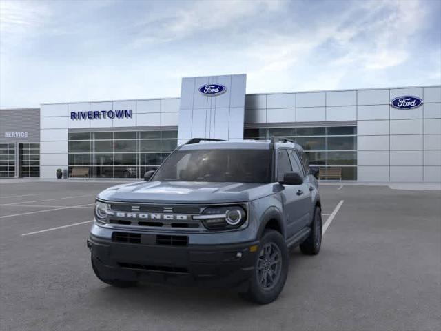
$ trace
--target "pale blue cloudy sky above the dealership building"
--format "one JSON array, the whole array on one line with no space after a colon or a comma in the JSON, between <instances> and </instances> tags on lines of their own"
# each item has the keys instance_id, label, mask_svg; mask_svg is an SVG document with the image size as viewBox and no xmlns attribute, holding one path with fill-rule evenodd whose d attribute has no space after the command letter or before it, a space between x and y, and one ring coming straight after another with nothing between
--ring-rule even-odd
<instances>
[{"instance_id":1,"label":"pale blue cloudy sky above the dealership building","mask_svg":"<svg viewBox=\"0 0 441 331\"><path fill-rule=\"evenodd\" d=\"M247 74L247 93L441 84L441 1L4 1L0 108L179 97Z\"/></svg>"}]
</instances>

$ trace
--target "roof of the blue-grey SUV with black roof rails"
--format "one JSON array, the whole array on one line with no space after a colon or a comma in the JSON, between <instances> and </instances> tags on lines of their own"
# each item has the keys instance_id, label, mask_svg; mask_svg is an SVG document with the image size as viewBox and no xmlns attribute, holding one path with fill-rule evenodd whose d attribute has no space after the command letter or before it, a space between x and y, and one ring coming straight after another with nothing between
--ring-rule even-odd
<instances>
[{"instance_id":1,"label":"roof of the blue-grey SUV with black roof rails","mask_svg":"<svg viewBox=\"0 0 441 331\"><path fill-rule=\"evenodd\" d=\"M181 150L205 150L205 149L242 149L242 150L269 150L271 140L236 140L236 141L201 141L181 146ZM302 151L298 143L278 142L274 143L275 148L288 147Z\"/></svg>"}]
</instances>

